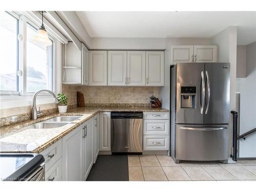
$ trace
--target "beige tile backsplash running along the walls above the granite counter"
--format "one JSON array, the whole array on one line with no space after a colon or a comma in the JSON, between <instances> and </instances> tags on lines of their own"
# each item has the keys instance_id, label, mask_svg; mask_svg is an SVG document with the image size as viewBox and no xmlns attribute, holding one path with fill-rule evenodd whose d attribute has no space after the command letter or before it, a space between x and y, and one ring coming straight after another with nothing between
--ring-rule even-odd
<instances>
[{"instance_id":1,"label":"beige tile backsplash running along the walls above the granite counter","mask_svg":"<svg viewBox=\"0 0 256 192\"><path fill-rule=\"evenodd\" d=\"M68 97L68 105L77 103L76 92L83 93L84 103L149 103L150 96L159 97L159 87L71 86L62 84L62 93ZM56 103L40 104L41 110L57 108ZM31 112L31 106L0 110L0 118Z\"/></svg>"}]
</instances>

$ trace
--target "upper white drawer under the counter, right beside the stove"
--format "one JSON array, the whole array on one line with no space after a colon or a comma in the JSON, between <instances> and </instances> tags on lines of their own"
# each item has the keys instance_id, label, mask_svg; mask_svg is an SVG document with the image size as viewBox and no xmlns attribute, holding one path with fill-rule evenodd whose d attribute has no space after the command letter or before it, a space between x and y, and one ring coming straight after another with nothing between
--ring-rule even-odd
<instances>
[{"instance_id":1,"label":"upper white drawer under the counter, right beside the stove","mask_svg":"<svg viewBox=\"0 0 256 192\"><path fill-rule=\"evenodd\" d=\"M45 158L46 171L61 157L61 139L41 152Z\"/></svg>"}]
</instances>

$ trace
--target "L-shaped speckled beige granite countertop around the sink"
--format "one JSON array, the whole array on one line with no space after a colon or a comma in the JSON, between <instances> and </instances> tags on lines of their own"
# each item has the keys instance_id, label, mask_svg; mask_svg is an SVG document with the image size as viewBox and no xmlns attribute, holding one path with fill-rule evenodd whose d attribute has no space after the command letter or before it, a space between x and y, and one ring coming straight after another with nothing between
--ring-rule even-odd
<instances>
[{"instance_id":1,"label":"L-shaped speckled beige granite countertop around the sink","mask_svg":"<svg viewBox=\"0 0 256 192\"><path fill-rule=\"evenodd\" d=\"M65 114L55 113L36 120L27 120L0 127L0 153L41 153L50 145L76 129L79 125L89 120L98 112L168 112L163 108L150 107L86 107L72 108ZM77 120L57 128L51 129L26 129L25 126L50 119L56 116L81 116Z\"/></svg>"}]
</instances>

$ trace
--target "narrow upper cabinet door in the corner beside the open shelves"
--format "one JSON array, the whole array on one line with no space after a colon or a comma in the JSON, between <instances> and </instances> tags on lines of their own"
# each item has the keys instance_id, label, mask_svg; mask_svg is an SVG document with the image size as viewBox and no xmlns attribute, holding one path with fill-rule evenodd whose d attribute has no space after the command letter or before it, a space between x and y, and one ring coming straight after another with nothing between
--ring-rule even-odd
<instances>
[{"instance_id":1,"label":"narrow upper cabinet door in the corner beside the open shelves","mask_svg":"<svg viewBox=\"0 0 256 192\"><path fill-rule=\"evenodd\" d=\"M82 44L82 84L89 86L89 51Z\"/></svg>"}]
</instances>

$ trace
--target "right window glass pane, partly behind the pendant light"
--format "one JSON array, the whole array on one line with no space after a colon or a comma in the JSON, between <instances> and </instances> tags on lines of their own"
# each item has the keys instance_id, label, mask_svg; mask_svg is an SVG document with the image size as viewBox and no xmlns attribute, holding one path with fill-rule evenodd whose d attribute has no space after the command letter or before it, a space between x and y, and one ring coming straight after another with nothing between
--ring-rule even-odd
<instances>
[{"instance_id":1,"label":"right window glass pane, partly behind the pendant light","mask_svg":"<svg viewBox=\"0 0 256 192\"><path fill-rule=\"evenodd\" d=\"M52 90L52 48L33 42L36 29L27 24L27 92Z\"/></svg>"}]
</instances>

